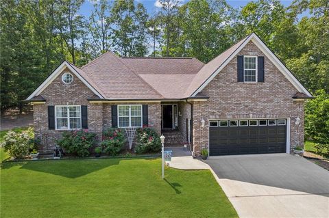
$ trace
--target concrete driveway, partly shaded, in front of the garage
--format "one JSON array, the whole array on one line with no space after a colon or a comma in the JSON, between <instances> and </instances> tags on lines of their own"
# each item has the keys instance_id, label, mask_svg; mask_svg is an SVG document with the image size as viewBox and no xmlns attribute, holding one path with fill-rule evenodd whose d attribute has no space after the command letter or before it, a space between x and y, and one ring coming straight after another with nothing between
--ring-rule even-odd
<instances>
[{"instance_id":1,"label":"concrete driveway, partly shaded, in front of the garage","mask_svg":"<svg viewBox=\"0 0 329 218\"><path fill-rule=\"evenodd\" d=\"M239 217L329 217L329 172L300 156L212 156Z\"/></svg>"}]
</instances>

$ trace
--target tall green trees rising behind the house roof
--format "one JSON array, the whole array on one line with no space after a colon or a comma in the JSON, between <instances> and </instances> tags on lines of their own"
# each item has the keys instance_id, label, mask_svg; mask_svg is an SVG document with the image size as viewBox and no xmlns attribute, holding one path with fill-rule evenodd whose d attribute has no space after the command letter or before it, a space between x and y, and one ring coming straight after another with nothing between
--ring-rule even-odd
<instances>
[{"instance_id":1,"label":"tall green trees rising behind the house roof","mask_svg":"<svg viewBox=\"0 0 329 218\"><path fill-rule=\"evenodd\" d=\"M122 56L197 57L202 62L255 32L306 88L329 92L329 3L251 1L232 8L225 0L160 0L148 14L133 0L1 1L1 111L23 109L25 99L64 59L77 66L101 53Z\"/></svg>"}]
</instances>

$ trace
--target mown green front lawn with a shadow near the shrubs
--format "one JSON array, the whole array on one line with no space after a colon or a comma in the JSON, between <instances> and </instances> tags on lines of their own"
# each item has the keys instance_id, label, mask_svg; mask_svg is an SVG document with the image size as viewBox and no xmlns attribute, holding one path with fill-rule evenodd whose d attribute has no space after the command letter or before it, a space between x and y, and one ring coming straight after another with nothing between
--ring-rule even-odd
<instances>
[{"instance_id":1,"label":"mown green front lawn with a shadow near the shrubs","mask_svg":"<svg viewBox=\"0 0 329 218\"><path fill-rule=\"evenodd\" d=\"M1 217L237 217L208 170L160 159L3 163Z\"/></svg>"}]
</instances>

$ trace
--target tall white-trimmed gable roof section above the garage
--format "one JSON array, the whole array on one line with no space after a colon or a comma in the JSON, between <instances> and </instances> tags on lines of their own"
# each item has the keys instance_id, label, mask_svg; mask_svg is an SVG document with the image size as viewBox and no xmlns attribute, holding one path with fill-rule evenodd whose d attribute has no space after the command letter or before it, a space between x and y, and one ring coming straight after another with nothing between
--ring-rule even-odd
<instances>
[{"instance_id":1,"label":"tall white-trimmed gable roof section above the garage","mask_svg":"<svg viewBox=\"0 0 329 218\"><path fill-rule=\"evenodd\" d=\"M293 86L307 96L312 96L308 90L298 81L295 76L288 70L286 66L276 57L276 55L264 44L262 40L256 35L256 33L251 33L249 36L243 38L243 40L237 42L230 49L221 53L221 55L212 59L208 64L206 64L195 76L191 85L186 90L185 96L196 96L201 92L212 79L214 79L217 74L243 49L243 47L248 42L254 42L256 46L262 51L271 62L284 74L285 77L293 84Z\"/></svg>"}]
</instances>

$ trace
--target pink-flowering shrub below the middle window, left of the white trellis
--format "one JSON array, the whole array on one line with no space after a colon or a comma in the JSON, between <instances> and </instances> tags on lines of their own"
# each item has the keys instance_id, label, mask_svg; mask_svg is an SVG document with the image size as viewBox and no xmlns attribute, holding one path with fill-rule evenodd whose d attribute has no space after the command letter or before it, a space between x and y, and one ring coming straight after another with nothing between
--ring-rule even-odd
<instances>
[{"instance_id":1,"label":"pink-flowering shrub below the middle window, left of the white trellis","mask_svg":"<svg viewBox=\"0 0 329 218\"><path fill-rule=\"evenodd\" d=\"M103 131L101 147L103 152L115 156L120 153L125 145L125 134L120 128L108 128Z\"/></svg>"}]
</instances>

